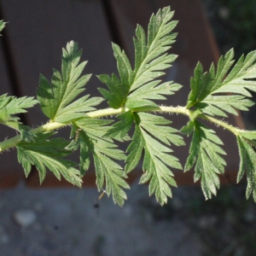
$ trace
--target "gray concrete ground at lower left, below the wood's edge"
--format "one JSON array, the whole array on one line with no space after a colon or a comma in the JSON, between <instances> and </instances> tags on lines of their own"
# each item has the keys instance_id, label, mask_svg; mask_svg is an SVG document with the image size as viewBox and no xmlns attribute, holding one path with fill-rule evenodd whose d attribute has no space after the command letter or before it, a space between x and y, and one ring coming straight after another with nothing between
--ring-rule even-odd
<instances>
[{"instance_id":1,"label":"gray concrete ground at lower left, below the wood's edge","mask_svg":"<svg viewBox=\"0 0 256 256\"><path fill-rule=\"evenodd\" d=\"M201 255L200 239L178 211L156 217L161 208L148 199L147 186L133 185L122 208L106 195L98 201L99 195L96 188L28 189L23 183L0 190L0 255Z\"/></svg>"}]
</instances>

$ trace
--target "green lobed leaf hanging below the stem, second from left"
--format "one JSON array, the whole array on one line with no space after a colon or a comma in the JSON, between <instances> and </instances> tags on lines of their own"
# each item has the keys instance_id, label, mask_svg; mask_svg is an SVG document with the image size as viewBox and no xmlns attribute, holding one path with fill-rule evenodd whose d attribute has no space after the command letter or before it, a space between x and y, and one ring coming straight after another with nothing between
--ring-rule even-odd
<instances>
[{"instance_id":1,"label":"green lobed leaf hanging below the stem, second from left","mask_svg":"<svg viewBox=\"0 0 256 256\"><path fill-rule=\"evenodd\" d=\"M126 199L124 189L129 189L125 182L125 172L115 160L125 160L125 154L117 148L111 138L104 137L112 120L80 119L75 124L79 127L80 153L84 160L80 167L86 172L90 165L90 155L96 167L96 185L99 190L106 186L107 195L113 195L114 203L120 206Z\"/></svg>"}]
</instances>

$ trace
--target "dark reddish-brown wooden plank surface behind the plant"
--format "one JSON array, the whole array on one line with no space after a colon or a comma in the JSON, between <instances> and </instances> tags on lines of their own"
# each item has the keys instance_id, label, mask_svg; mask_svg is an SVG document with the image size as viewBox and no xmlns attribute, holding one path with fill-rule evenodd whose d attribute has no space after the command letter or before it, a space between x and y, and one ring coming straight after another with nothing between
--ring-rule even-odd
<instances>
[{"instance_id":1,"label":"dark reddish-brown wooden plank surface behind the plant","mask_svg":"<svg viewBox=\"0 0 256 256\"><path fill-rule=\"evenodd\" d=\"M177 43L172 52L179 55L173 67L167 71L166 78L183 84L177 96L172 96L166 105L183 105L189 93L189 79L197 61L207 69L212 61L218 60L218 47L212 36L201 0L2 0L1 19L8 21L3 31L0 47L0 93L15 96L35 96L39 73L48 79L52 67L61 68L61 48L74 40L84 50L83 60L89 60L86 73L116 73L111 41L119 44L129 57L133 57L132 37L137 23L145 29L150 15L158 9L171 5L175 10L175 20L179 20L176 31ZM94 76L87 84L86 93L99 95L102 84ZM103 105L102 107L106 107ZM179 129L186 124L182 116L170 116L174 126ZM29 110L22 116L26 125L36 127L46 121L39 108ZM242 125L240 118L230 119L233 125ZM1 126L1 139L9 130ZM15 135L11 131L11 135ZM61 131L62 132L62 131ZM228 166L222 183L234 183L238 169L236 141L230 133L219 130L223 138ZM174 148L177 157L184 161L189 153L186 147ZM15 150L0 155L0 187L14 186L24 178L21 166L17 163ZM135 179L138 172L131 176ZM175 172L178 184L193 183L193 172ZM38 186L38 174L26 180L29 186ZM63 186L50 173L43 186ZM84 177L84 186L95 185L95 175L91 172Z\"/></svg>"}]
</instances>

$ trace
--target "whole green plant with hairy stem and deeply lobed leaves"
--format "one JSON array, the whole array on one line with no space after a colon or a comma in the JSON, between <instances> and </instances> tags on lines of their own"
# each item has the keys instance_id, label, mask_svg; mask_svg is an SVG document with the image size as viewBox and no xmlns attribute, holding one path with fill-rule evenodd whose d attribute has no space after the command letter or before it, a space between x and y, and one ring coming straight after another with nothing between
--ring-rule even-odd
<instances>
[{"instance_id":1,"label":"whole green plant with hairy stem and deeply lobed leaves","mask_svg":"<svg viewBox=\"0 0 256 256\"><path fill-rule=\"evenodd\" d=\"M195 67L195 75L190 80L191 91L188 102L183 107L165 107L154 100L165 100L174 95L182 86L173 82L162 83L160 76L166 68L172 67L177 55L169 53L177 33L172 32L177 21L172 21L170 7L160 9L152 15L148 25L148 35L142 26L137 26L135 65L132 68L125 52L113 44L113 54L117 61L119 77L115 74L97 76L108 89L99 89L110 108L96 109L102 97L82 96L84 85L90 75L81 75L86 62L79 62L82 51L73 41L63 49L61 73L54 70L51 82L39 78L38 100L32 97L0 97L0 120L20 132L19 136L0 143L1 152L17 148L20 164L26 177L36 166L40 182L44 181L46 168L61 179L81 187L85 172L90 167L90 159L96 169L96 185L113 195L113 201L120 206L126 199L124 189L127 174L134 170L143 158L143 176L140 183L149 183L149 195L155 195L161 205L167 197L172 197L171 186L177 184L170 168L183 169L179 160L172 155L171 144L184 145L183 135L191 136L189 157L184 166L188 172L195 166L195 182L201 179L205 197L216 195L219 188L218 174L224 173L226 165L222 141L215 131L201 123L207 120L232 132L237 139L241 164L237 182L247 173L247 198L253 194L256 201L256 131L243 131L221 120L227 114L237 114L236 109L248 110L253 102L247 97L249 90L256 91L256 51L243 55L234 67L234 51L231 49L221 56L217 67L213 64L208 72L201 63ZM3 28L2 21L1 27ZM36 129L20 123L16 113L26 112L40 104L49 122ZM187 115L189 122L180 131L172 128L171 121L157 113L179 113ZM116 116L119 120L102 119ZM220 119L219 119L220 118ZM71 140L54 136L57 129L71 127ZM132 137L128 133L134 127ZM155 132L157 131L157 132ZM179 134L181 133L181 134ZM117 148L114 141L131 140L126 154ZM79 169L73 161L66 160L68 154L79 150ZM125 170L119 165L125 160Z\"/></svg>"}]
</instances>

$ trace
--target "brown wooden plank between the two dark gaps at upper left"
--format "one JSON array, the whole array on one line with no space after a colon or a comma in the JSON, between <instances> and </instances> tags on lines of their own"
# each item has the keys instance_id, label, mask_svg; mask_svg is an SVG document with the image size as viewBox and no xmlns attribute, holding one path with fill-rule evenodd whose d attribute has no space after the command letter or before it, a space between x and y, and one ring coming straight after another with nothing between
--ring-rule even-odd
<instances>
[{"instance_id":1,"label":"brown wooden plank between the two dark gaps at upper left","mask_svg":"<svg viewBox=\"0 0 256 256\"><path fill-rule=\"evenodd\" d=\"M3 0L1 4L3 18L9 22L10 49L22 96L36 95L39 73L50 79L52 67L61 69L61 48L71 40L83 49L82 60L89 60L85 73L96 75L116 70L100 0ZM100 86L104 85L94 76L86 85L85 94L100 96L97 90ZM102 108L106 107L107 102L102 104ZM28 113L28 125L33 127L46 120L39 108ZM69 131L62 129L59 132L61 136L69 137ZM79 159L78 155L74 159ZM38 173L34 175L38 180ZM33 178L27 183L33 185Z\"/></svg>"}]
</instances>

